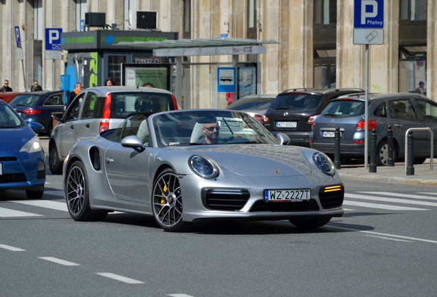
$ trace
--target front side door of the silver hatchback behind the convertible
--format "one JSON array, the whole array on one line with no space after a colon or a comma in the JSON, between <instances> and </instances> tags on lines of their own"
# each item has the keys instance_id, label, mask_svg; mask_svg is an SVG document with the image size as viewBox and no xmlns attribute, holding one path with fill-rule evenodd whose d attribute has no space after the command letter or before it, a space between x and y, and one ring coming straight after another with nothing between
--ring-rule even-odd
<instances>
[{"instance_id":1,"label":"front side door of the silver hatchback behind the convertible","mask_svg":"<svg viewBox=\"0 0 437 297\"><path fill-rule=\"evenodd\" d=\"M71 148L76 144L74 128L79 120L80 109L85 94L79 94L69 105L63 117L64 122L56 125L56 146L61 158L67 157Z\"/></svg>"}]
</instances>

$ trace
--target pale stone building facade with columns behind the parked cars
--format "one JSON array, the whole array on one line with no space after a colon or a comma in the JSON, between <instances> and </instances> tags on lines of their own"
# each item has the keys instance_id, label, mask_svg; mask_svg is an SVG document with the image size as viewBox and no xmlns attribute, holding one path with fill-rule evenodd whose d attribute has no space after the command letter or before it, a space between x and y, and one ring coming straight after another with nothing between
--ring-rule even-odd
<instances>
[{"instance_id":1,"label":"pale stone building facade with columns behind the parked cars","mask_svg":"<svg viewBox=\"0 0 437 297\"><path fill-rule=\"evenodd\" d=\"M45 28L80 31L86 12L106 13L107 24L128 30L128 11L157 11L157 29L179 39L272 39L267 53L241 55L259 61L259 94L296 87L365 88L365 45L353 44L354 0L3 0L0 16L0 74L14 91L59 89L65 62L45 59ZM436 98L437 3L385 0L384 44L369 48L369 91L414 91L424 81ZM23 60L16 56L14 27ZM111 30L111 28L108 28ZM92 28L90 30L93 30ZM171 58L170 58L171 61ZM216 93L216 63L232 56L188 56L183 67L184 108L223 108ZM104 67L102 65L102 67ZM24 72L24 73L23 73ZM53 83L54 82L54 83ZM218 101L216 98L219 98ZM218 104L216 104L218 102Z\"/></svg>"}]
</instances>

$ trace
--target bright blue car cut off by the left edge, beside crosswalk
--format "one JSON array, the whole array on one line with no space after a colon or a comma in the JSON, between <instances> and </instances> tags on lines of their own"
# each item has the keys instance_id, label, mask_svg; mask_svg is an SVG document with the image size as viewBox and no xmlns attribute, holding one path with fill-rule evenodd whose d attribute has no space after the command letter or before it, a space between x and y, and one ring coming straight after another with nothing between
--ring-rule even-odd
<instances>
[{"instance_id":1,"label":"bright blue car cut off by the left edge, beside crosswalk","mask_svg":"<svg viewBox=\"0 0 437 297\"><path fill-rule=\"evenodd\" d=\"M25 190L31 199L43 197L44 151L34 132L40 129L43 129L41 124L27 125L14 109L0 100L0 191Z\"/></svg>"}]
</instances>

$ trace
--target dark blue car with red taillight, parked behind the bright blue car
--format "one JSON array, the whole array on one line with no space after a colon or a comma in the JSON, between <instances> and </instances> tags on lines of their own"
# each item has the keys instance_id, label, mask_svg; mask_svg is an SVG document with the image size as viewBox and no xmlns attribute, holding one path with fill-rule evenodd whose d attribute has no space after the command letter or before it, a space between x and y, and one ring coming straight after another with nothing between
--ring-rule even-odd
<instances>
[{"instance_id":1,"label":"dark blue car with red taillight, parked behind the bright blue car","mask_svg":"<svg viewBox=\"0 0 437 297\"><path fill-rule=\"evenodd\" d=\"M16 96L10 103L27 123L37 122L44 126L38 133L52 134L52 113L64 111L63 91L35 91Z\"/></svg>"}]
</instances>

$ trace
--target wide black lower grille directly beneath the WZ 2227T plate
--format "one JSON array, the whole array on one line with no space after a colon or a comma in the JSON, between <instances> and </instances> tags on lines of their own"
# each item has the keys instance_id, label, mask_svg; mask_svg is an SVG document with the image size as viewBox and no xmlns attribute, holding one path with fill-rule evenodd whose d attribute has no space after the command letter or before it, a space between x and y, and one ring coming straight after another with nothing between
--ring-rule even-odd
<instances>
[{"instance_id":1,"label":"wide black lower grille directly beneath the WZ 2227T plate","mask_svg":"<svg viewBox=\"0 0 437 297\"><path fill-rule=\"evenodd\" d=\"M293 202L265 202L260 200L254 203L250 212L302 212L319 209L317 202L313 199Z\"/></svg>"}]
</instances>

